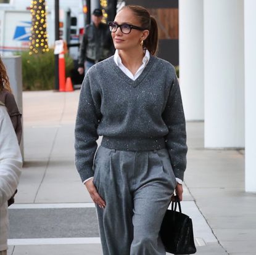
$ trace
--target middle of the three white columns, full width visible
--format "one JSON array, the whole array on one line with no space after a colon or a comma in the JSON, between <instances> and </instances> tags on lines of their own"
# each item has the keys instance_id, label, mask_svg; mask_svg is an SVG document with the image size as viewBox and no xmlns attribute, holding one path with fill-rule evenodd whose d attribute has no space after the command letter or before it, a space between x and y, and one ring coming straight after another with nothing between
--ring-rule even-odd
<instances>
[{"instance_id":1,"label":"middle of the three white columns, full width visible","mask_svg":"<svg viewBox=\"0 0 256 255\"><path fill-rule=\"evenodd\" d=\"M204 85L205 147L244 147L242 0L204 1Z\"/></svg>"}]
</instances>

